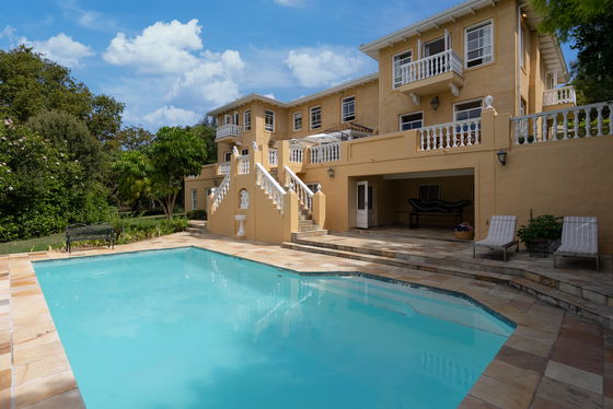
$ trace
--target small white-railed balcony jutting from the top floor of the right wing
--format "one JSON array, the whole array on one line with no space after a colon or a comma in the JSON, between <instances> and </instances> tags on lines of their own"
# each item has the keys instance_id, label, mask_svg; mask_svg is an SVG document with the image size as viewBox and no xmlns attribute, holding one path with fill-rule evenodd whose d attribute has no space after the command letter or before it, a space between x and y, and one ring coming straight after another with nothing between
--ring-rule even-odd
<instances>
[{"instance_id":1,"label":"small white-railed balcony jutting from the top floor of the right wing","mask_svg":"<svg viewBox=\"0 0 613 409\"><path fill-rule=\"evenodd\" d=\"M419 97L451 90L458 96L464 85L462 59L448 49L400 67L400 91L409 94L418 104Z\"/></svg>"}]
</instances>

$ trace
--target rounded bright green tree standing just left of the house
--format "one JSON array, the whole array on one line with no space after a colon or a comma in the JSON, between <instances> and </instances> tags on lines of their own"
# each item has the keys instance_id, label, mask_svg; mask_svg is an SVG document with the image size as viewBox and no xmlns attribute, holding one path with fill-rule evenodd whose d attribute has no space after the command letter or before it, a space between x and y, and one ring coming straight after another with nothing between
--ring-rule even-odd
<instances>
[{"instance_id":1,"label":"rounded bright green tree standing just left of the house","mask_svg":"<svg viewBox=\"0 0 613 409\"><path fill-rule=\"evenodd\" d=\"M190 130L164 127L155 135L148 156L152 164L152 195L171 219L183 177L199 174L207 160L205 141Z\"/></svg>"}]
</instances>

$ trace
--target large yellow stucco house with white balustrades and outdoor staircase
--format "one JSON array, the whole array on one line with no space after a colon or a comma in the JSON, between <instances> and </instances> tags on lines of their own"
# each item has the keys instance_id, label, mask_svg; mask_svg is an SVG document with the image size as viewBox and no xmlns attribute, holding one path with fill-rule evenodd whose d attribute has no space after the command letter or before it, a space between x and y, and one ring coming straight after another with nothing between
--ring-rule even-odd
<instances>
[{"instance_id":1,"label":"large yellow stucco house with white balustrades and outdoor staircase","mask_svg":"<svg viewBox=\"0 0 613 409\"><path fill-rule=\"evenodd\" d=\"M218 163L185 178L186 210L206 209L212 233L281 243L408 224L410 198L469 200L475 238L493 214L592 215L612 254L613 103L576 106L537 22L514 0L469 0L362 45L377 73L210 112Z\"/></svg>"}]
</instances>

